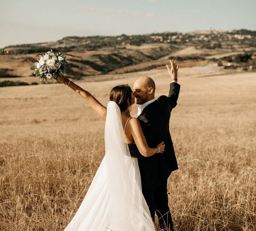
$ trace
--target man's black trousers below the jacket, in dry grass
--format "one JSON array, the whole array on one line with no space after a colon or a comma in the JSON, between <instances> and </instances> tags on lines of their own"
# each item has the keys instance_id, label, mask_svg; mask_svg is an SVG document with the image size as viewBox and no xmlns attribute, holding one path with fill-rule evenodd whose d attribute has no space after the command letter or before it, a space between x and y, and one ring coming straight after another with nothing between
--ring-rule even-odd
<instances>
[{"instance_id":1,"label":"man's black trousers below the jacket, in dry grass","mask_svg":"<svg viewBox=\"0 0 256 231\"><path fill-rule=\"evenodd\" d=\"M167 179L162 181L160 186L154 189L144 189L142 193L149 206L152 220L155 221L155 212L158 216L160 228L165 231L173 231L171 211L168 206Z\"/></svg>"}]
</instances>

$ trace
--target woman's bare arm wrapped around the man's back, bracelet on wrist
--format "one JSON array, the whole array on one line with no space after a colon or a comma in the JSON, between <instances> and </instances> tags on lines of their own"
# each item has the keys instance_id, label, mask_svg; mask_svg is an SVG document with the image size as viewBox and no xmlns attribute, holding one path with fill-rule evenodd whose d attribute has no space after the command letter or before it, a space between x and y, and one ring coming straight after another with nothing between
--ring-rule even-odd
<instances>
[{"instance_id":1,"label":"woman's bare arm wrapped around the man's back, bracelet on wrist","mask_svg":"<svg viewBox=\"0 0 256 231\"><path fill-rule=\"evenodd\" d=\"M147 141L142 132L139 120L132 118L130 119L129 125L132 138L134 139L134 142L142 156L149 157L155 155L155 153L163 153L165 148L164 142L159 143L159 145L155 148L150 148L147 145Z\"/></svg>"}]
</instances>

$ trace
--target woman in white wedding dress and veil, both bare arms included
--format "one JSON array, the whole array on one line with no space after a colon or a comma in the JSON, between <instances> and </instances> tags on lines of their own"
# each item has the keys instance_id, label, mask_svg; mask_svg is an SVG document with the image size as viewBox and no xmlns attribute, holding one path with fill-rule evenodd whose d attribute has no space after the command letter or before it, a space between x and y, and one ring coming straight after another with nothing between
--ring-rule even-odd
<instances>
[{"instance_id":1,"label":"woman in white wedding dress and veil, both bare arms included","mask_svg":"<svg viewBox=\"0 0 256 231\"><path fill-rule=\"evenodd\" d=\"M164 142L149 148L139 121L130 116L134 94L128 85L115 86L104 107L88 91L68 78L56 81L68 85L87 100L105 122L105 156L83 202L64 231L155 231L142 195L138 159L130 156L128 144L137 145L147 157L164 151Z\"/></svg>"}]
</instances>

